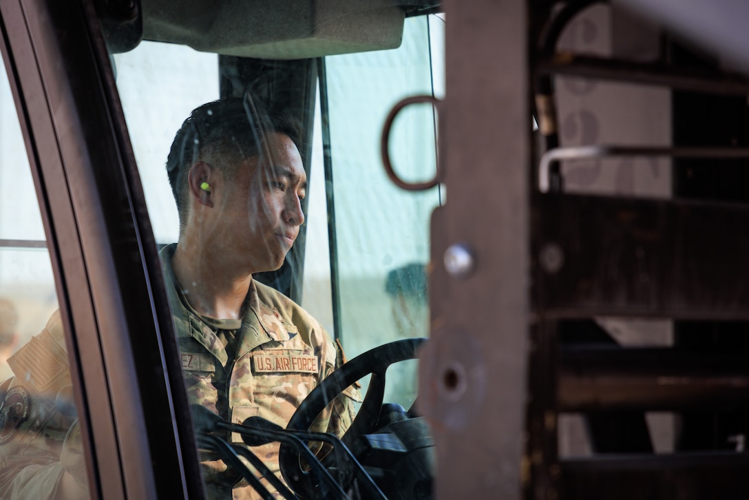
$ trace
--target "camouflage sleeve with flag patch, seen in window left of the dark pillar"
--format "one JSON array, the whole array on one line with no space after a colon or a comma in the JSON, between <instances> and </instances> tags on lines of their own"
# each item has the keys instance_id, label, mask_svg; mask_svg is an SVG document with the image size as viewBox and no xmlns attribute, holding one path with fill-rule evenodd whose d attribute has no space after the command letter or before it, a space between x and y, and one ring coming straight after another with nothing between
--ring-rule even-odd
<instances>
[{"instance_id":1,"label":"camouflage sleeve with flag patch, seen in window left of the dark pillar","mask_svg":"<svg viewBox=\"0 0 749 500\"><path fill-rule=\"evenodd\" d=\"M60 313L10 356L0 385L0 498L88 498Z\"/></svg>"}]
</instances>

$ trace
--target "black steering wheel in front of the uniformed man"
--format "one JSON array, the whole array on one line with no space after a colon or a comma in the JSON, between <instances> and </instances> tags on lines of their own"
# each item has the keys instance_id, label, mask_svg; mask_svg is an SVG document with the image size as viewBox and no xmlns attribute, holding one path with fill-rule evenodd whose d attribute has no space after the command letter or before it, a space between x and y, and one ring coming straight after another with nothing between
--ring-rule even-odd
<instances>
[{"instance_id":1,"label":"black steering wheel in front of the uniformed man","mask_svg":"<svg viewBox=\"0 0 749 500\"><path fill-rule=\"evenodd\" d=\"M335 400L349 385L372 373L362 406L351 423L351 427L348 428L341 439L346 446L351 448L351 444L356 442L360 436L372 433L375 430L385 393L385 372L387 368L399 361L415 359L416 350L425 342L425 338L395 340L395 342L375 347L375 349L371 349L343 364L309 393L297 408L297 411L294 412L286 429L292 431L309 430L315 422L315 418L331 401ZM332 455L330 454L328 457ZM312 474L306 472L300 466L299 454L294 453L294 450L288 446L281 446L279 467L286 483L295 493L303 498L310 498L314 495L317 482Z\"/></svg>"}]
</instances>

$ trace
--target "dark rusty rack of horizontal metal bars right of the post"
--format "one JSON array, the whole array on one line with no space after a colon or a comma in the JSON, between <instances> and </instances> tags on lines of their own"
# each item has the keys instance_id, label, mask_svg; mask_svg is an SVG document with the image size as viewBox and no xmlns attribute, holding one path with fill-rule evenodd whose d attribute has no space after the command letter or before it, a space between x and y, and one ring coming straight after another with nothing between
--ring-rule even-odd
<instances>
[{"instance_id":1,"label":"dark rusty rack of horizontal metal bars right of the post","mask_svg":"<svg viewBox=\"0 0 749 500\"><path fill-rule=\"evenodd\" d=\"M679 62L555 54L536 61L533 70L547 77L646 83L719 96L743 96L748 88L736 74ZM530 198L536 321L530 325L525 498L739 499L749 494L744 473L749 455L742 445L718 443L715 429L706 425L723 415L733 415L729 420L736 424L748 409L747 344L712 349L710 325L749 319L749 238L742 229L749 224L749 205L727 202L720 193L709 200L685 199L678 188L672 199L662 200L570 195L555 165L611 155L745 161L746 140L739 137L733 145L706 141L713 146L680 144L675 134L671 148L587 145L551 148L542 156L539 190L551 193ZM711 167L722 168L720 163ZM680 168L675 163L675 175ZM596 316L671 319L677 340L669 347L621 347L595 325ZM691 338L703 340L696 346L679 343L681 322L702 328ZM655 454L644 419L653 411L674 412L682 422L694 413L712 415L681 430L699 436L703 445L676 443L673 454ZM586 418L592 456L559 457L558 421L565 412ZM737 429L741 441L749 427Z\"/></svg>"}]
</instances>

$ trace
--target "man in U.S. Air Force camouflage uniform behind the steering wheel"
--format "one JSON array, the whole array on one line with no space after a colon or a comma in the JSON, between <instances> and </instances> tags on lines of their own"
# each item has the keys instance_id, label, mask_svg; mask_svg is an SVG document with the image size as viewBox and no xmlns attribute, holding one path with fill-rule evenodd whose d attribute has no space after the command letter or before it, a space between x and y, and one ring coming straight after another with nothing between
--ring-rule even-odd
<instances>
[{"instance_id":1,"label":"man in U.S. Air Force camouflage uniform behind the steering wheel","mask_svg":"<svg viewBox=\"0 0 749 500\"><path fill-rule=\"evenodd\" d=\"M343 355L305 310L252 278L281 267L306 193L297 125L254 106L208 103L178 131L167 169L180 235L162 259L190 400L235 423L259 415L285 427ZM339 397L314 430L341 434L353 397ZM277 443L254 451L278 471ZM252 498L236 471L203 458L209 497Z\"/></svg>"}]
</instances>

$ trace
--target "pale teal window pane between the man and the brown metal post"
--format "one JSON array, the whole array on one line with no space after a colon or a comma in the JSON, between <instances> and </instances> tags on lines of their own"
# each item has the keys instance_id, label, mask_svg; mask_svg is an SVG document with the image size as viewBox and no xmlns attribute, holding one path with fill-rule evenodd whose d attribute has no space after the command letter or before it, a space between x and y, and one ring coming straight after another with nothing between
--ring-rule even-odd
<instances>
[{"instance_id":1,"label":"pale teal window pane between the man and the brown metal post","mask_svg":"<svg viewBox=\"0 0 749 500\"><path fill-rule=\"evenodd\" d=\"M413 17L406 19L397 50L326 60L339 334L351 355L398 338L428 336L429 218L442 193L440 187L413 193L392 184L380 159L380 134L399 100L441 96L443 73L432 61L443 60L443 28L437 16ZM405 108L396 118L389 151L404 181L434 177L436 119L428 105ZM408 408L416 397L416 363L392 370L397 373L389 376L399 383L386 388L386 400Z\"/></svg>"}]
</instances>

